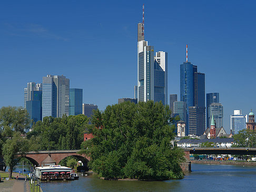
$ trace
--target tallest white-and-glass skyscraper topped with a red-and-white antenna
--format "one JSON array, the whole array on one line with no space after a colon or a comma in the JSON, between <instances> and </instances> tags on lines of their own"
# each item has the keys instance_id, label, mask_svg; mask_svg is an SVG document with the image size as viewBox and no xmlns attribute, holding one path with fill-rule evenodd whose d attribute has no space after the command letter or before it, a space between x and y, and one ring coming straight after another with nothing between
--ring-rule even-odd
<instances>
[{"instance_id":1,"label":"tallest white-and-glass skyscraper topped with a red-and-white antenna","mask_svg":"<svg viewBox=\"0 0 256 192\"><path fill-rule=\"evenodd\" d=\"M138 24L137 41L138 102L154 100L167 105L168 54L156 52L154 56L154 47L144 41L144 8L143 22Z\"/></svg>"}]
</instances>

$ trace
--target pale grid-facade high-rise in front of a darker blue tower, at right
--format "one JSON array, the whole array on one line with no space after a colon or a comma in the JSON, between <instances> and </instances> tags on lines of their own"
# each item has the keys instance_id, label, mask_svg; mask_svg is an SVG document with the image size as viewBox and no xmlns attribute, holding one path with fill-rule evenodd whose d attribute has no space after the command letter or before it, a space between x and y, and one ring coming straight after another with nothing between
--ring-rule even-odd
<instances>
[{"instance_id":1,"label":"pale grid-facade high-rise in front of a darker blue tower, at right","mask_svg":"<svg viewBox=\"0 0 256 192\"><path fill-rule=\"evenodd\" d=\"M212 103L209 106L209 115L213 116L216 126L215 128L223 127L223 105L221 103Z\"/></svg>"}]
</instances>

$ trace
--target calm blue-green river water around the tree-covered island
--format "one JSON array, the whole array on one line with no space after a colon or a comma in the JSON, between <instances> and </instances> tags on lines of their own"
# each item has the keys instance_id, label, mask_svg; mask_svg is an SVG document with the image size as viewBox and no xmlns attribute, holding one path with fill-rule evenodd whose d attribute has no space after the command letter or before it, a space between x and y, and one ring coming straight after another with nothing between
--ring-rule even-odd
<instances>
[{"instance_id":1,"label":"calm blue-green river water around the tree-covered island","mask_svg":"<svg viewBox=\"0 0 256 192\"><path fill-rule=\"evenodd\" d=\"M73 181L49 181L43 192L58 191L256 191L256 167L192 165L184 179L166 181L109 181L96 174Z\"/></svg>"}]
</instances>

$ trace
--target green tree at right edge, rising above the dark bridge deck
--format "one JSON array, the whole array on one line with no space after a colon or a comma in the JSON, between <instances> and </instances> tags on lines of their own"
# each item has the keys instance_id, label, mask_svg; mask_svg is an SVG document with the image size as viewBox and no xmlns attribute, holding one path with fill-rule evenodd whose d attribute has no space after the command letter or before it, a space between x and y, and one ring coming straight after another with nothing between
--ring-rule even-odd
<instances>
[{"instance_id":1,"label":"green tree at right edge, rising above the dark bridge deck","mask_svg":"<svg viewBox=\"0 0 256 192\"><path fill-rule=\"evenodd\" d=\"M236 144L232 147L256 147L256 132L253 130L240 130L233 138Z\"/></svg>"}]
</instances>

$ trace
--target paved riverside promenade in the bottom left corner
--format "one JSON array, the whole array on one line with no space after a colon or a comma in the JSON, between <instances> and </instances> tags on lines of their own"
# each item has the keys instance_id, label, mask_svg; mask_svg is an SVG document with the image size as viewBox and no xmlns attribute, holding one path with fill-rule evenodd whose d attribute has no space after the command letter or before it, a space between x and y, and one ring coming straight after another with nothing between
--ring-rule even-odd
<instances>
[{"instance_id":1,"label":"paved riverside promenade in the bottom left corner","mask_svg":"<svg viewBox=\"0 0 256 192\"><path fill-rule=\"evenodd\" d=\"M4 171L0 171L0 176L3 178L3 173L7 173ZM7 173L8 174L8 173ZM18 180L16 180L16 176L18 175ZM11 180L2 180L0 183L1 192L31 192L29 186L29 180L25 181L25 176L19 176L18 173L12 174Z\"/></svg>"}]
</instances>

